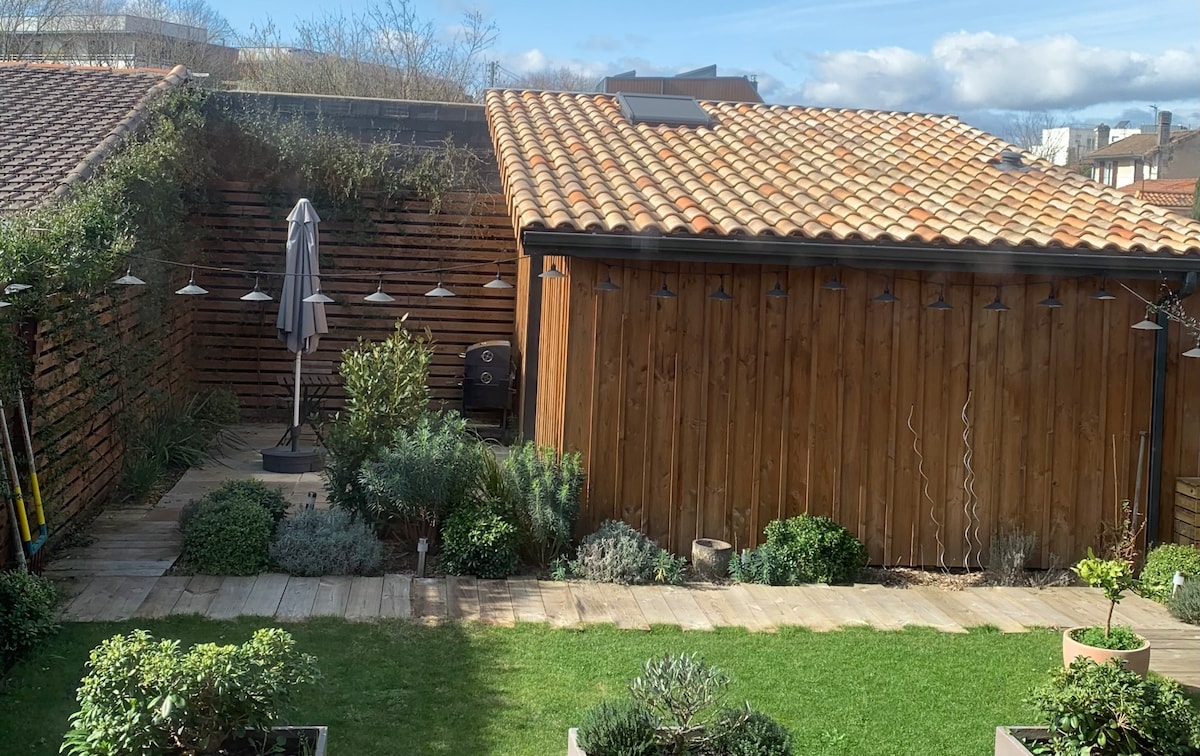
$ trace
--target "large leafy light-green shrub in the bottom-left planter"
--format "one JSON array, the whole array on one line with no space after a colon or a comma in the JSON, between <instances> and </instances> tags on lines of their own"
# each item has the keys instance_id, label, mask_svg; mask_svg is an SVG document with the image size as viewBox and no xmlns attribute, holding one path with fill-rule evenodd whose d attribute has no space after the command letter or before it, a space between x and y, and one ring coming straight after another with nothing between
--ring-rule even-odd
<instances>
[{"instance_id":1,"label":"large leafy light-green shrub in the bottom-left planter","mask_svg":"<svg viewBox=\"0 0 1200 756\"><path fill-rule=\"evenodd\" d=\"M144 630L91 652L62 751L72 756L216 754L232 736L287 712L316 660L280 629L241 646L155 641Z\"/></svg>"}]
</instances>

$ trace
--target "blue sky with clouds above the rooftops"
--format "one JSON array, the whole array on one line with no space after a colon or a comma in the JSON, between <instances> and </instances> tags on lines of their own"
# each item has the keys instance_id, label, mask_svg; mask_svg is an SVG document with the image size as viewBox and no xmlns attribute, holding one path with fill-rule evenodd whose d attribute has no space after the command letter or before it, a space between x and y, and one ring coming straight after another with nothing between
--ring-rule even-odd
<instances>
[{"instance_id":1,"label":"blue sky with clouds above the rooftops","mask_svg":"<svg viewBox=\"0 0 1200 756\"><path fill-rule=\"evenodd\" d=\"M331 6L210 0L239 30ZM768 102L955 113L984 125L1012 110L1061 121L1151 120L1151 106L1200 126L1196 0L1004 2L743 0L412 0L451 34L466 8L494 22L488 58L516 74L568 66L595 77L716 64L754 74Z\"/></svg>"}]
</instances>

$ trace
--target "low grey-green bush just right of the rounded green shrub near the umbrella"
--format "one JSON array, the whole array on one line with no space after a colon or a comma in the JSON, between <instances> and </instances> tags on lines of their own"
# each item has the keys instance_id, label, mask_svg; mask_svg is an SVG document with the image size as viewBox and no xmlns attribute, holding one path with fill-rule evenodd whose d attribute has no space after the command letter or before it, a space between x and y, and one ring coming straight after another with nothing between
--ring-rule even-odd
<instances>
[{"instance_id":1,"label":"low grey-green bush just right of the rounded green shrub near the umbrella","mask_svg":"<svg viewBox=\"0 0 1200 756\"><path fill-rule=\"evenodd\" d=\"M271 539L271 564L292 575L372 575L383 562L374 529L341 509L306 509L283 522Z\"/></svg>"}]
</instances>

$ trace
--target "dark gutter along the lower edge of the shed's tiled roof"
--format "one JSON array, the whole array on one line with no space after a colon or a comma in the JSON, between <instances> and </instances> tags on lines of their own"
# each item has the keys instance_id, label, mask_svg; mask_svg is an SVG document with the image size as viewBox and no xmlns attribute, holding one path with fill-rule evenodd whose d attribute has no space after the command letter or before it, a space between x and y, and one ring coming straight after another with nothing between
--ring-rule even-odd
<instances>
[{"instance_id":1,"label":"dark gutter along the lower edge of the shed's tiled roof","mask_svg":"<svg viewBox=\"0 0 1200 756\"><path fill-rule=\"evenodd\" d=\"M947 272L1124 275L1200 272L1200 254L1045 247L950 247L763 236L658 236L526 229L527 254L761 265L852 265Z\"/></svg>"}]
</instances>

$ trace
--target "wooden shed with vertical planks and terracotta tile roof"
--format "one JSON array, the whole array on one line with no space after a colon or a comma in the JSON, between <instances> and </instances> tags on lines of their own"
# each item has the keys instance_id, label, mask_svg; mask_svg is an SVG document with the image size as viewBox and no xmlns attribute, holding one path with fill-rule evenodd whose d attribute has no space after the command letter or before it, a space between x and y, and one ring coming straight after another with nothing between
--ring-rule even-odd
<instances>
[{"instance_id":1,"label":"wooden shed with vertical planks and terracotta tile roof","mask_svg":"<svg viewBox=\"0 0 1200 756\"><path fill-rule=\"evenodd\" d=\"M685 553L814 512L875 563L978 566L1015 524L1049 565L1130 499L1169 539L1200 223L949 116L643 104L487 98L522 427L582 452L581 532Z\"/></svg>"}]
</instances>

